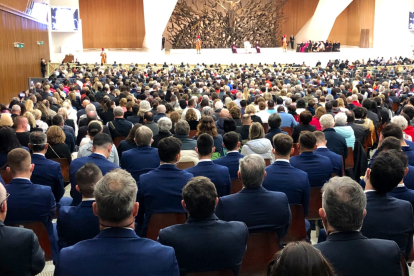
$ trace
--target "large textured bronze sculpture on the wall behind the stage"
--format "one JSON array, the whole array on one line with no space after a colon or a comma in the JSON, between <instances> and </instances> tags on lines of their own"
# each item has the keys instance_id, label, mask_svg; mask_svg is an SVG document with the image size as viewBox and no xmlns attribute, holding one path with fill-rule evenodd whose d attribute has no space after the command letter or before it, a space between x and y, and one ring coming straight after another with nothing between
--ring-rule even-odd
<instances>
[{"instance_id":1,"label":"large textured bronze sculpture on the wall behind the stage","mask_svg":"<svg viewBox=\"0 0 414 276\"><path fill-rule=\"evenodd\" d=\"M199 35L203 48L238 47L259 41L261 47L281 45L281 28L288 0L179 0L167 27L174 49L195 47Z\"/></svg>"}]
</instances>

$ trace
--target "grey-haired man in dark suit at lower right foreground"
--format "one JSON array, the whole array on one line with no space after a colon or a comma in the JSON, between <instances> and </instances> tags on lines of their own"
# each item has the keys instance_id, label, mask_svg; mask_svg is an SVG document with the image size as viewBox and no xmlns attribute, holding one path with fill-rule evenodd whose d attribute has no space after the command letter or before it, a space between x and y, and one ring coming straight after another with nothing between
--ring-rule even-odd
<instances>
[{"instance_id":1,"label":"grey-haired man in dark suit at lower right foreground","mask_svg":"<svg viewBox=\"0 0 414 276\"><path fill-rule=\"evenodd\" d=\"M368 239L359 231L362 224L365 226L365 215L370 213L368 210L367 214L366 205L367 199L358 183L349 177L332 178L323 187L319 209L328 237L315 247L336 275L402 275L398 245L394 241ZM378 223L383 219L387 221L380 218ZM381 223L380 228L384 226Z\"/></svg>"}]
</instances>

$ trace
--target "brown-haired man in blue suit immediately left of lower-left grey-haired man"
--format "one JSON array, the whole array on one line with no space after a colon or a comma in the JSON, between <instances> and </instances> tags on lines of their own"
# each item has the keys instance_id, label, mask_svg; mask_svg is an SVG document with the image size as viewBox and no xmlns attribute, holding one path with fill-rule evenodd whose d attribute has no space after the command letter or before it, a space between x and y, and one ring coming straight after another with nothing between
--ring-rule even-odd
<instances>
[{"instance_id":1,"label":"brown-haired man in blue suit immediately left of lower-left grey-haired man","mask_svg":"<svg viewBox=\"0 0 414 276\"><path fill-rule=\"evenodd\" d=\"M102 172L93 163L86 163L76 173L76 190L82 194L78 206L64 206L59 209L57 234L59 248L72 246L99 234L99 220L93 214L95 184L102 178Z\"/></svg>"}]
</instances>

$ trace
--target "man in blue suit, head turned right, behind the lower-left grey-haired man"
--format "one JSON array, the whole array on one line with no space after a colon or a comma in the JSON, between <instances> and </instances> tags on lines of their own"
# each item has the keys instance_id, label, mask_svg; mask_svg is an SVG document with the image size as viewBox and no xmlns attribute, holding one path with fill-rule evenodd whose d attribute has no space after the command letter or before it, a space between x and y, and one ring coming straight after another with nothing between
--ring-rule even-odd
<instances>
[{"instance_id":1,"label":"man in blue suit, head turned right, behind the lower-left grey-haired man","mask_svg":"<svg viewBox=\"0 0 414 276\"><path fill-rule=\"evenodd\" d=\"M102 175L119 168L117 165L108 160L113 147L112 139L108 134L97 134L93 139L92 154L86 157L76 158L70 163L70 195L73 198L72 206L77 206L82 201L82 195L76 190L76 173L86 163L95 163L102 171Z\"/></svg>"}]
</instances>

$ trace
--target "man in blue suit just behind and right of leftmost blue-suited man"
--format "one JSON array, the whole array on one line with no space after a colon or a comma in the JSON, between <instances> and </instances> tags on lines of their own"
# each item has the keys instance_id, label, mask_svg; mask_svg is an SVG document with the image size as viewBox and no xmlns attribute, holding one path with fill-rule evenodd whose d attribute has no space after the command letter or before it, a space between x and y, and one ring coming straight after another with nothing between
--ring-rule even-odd
<instances>
[{"instance_id":1,"label":"man in blue suit just behind and right of leftmost blue-suited man","mask_svg":"<svg viewBox=\"0 0 414 276\"><path fill-rule=\"evenodd\" d=\"M30 180L32 183L51 187L56 202L59 202L65 193L62 170L59 163L46 159L48 147L46 134L42 131L30 134L29 149L33 152L32 164L35 165Z\"/></svg>"}]
</instances>

